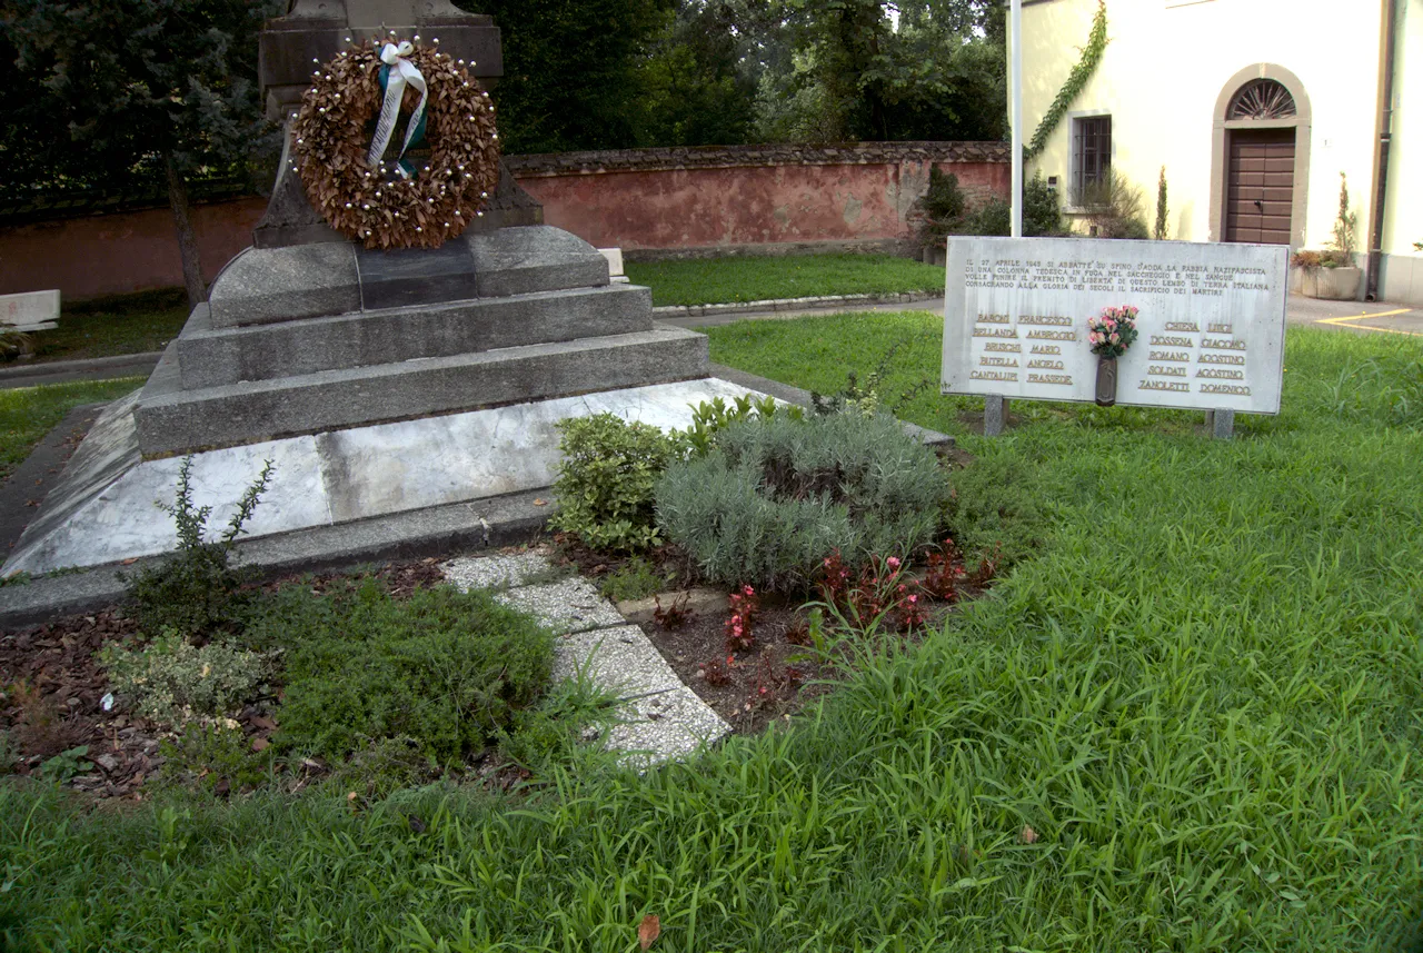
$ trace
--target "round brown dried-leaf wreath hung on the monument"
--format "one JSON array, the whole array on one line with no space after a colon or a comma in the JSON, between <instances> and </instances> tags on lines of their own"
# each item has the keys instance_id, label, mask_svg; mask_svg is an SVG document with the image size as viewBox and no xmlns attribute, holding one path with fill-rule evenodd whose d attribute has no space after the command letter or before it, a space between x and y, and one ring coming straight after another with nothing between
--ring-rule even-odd
<instances>
[{"instance_id":1,"label":"round brown dried-leaf wreath hung on the monument","mask_svg":"<svg viewBox=\"0 0 1423 953\"><path fill-rule=\"evenodd\" d=\"M494 105L462 60L417 46L407 58L430 88L430 159L410 179L373 169L366 154L383 101L380 48L367 40L316 71L295 122L296 168L312 206L347 238L370 249L440 247L482 215L499 181ZM407 88L403 111L416 98ZM393 141L387 168L398 149Z\"/></svg>"}]
</instances>

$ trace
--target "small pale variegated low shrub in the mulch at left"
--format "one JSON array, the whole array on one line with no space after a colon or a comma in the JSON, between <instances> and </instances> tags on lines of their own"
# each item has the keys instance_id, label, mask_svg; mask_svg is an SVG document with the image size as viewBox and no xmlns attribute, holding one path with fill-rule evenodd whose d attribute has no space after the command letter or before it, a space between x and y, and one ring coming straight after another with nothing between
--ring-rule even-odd
<instances>
[{"instance_id":1,"label":"small pale variegated low shrub in the mulch at left","mask_svg":"<svg viewBox=\"0 0 1423 953\"><path fill-rule=\"evenodd\" d=\"M266 674L266 660L253 651L223 641L198 649L166 627L141 649L110 643L100 661L137 714L164 724L228 714L258 693Z\"/></svg>"}]
</instances>

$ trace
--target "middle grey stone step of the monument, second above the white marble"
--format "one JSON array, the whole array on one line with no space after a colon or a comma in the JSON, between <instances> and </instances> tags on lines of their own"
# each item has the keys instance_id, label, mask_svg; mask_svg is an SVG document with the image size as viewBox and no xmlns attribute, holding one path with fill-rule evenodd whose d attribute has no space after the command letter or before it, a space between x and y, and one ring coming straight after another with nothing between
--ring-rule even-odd
<instances>
[{"instance_id":1,"label":"middle grey stone step of the monument, second above the white marble","mask_svg":"<svg viewBox=\"0 0 1423 953\"><path fill-rule=\"evenodd\" d=\"M199 304L178 339L178 366L192 390L649 330L652 292L630 284L228 329L213 329Z\"/></svg>"}]
</instances>

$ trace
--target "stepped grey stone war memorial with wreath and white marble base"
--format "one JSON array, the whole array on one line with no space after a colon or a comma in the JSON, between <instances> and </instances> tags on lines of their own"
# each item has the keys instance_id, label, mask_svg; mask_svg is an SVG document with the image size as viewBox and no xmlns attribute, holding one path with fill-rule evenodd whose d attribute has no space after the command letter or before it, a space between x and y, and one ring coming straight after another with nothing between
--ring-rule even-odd
<instances>
[{"instance_id":1,"label":"stepped grey stone war memorial with wreath and white marble base","mask_svg":"<svg viewBox=\"0 0 1423 953\"><path fill-rule=\"evenodd\" d=\"M275 464L252 536L416 511L438 533L549 486L561 420L683 427L747 393L709 378L706 337L653 324L647 289L542 225L499 158L491 17L295 0L259 67L286 139L252 247L95 422L6 575L171 549L154 504L185 455L215 521Z\"/></svg>"}]
</instances>

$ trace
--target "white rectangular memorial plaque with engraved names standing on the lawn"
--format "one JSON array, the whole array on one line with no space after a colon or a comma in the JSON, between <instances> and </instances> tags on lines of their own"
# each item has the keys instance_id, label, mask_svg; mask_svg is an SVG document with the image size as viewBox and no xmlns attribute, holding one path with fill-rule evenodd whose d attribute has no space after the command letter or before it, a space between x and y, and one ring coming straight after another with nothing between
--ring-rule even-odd
<instances>
[{"instance_id":1,"label":"white rectangular memorial plaque with engraved names standing on the lawn","mask_svg":"<svg viewBox=\"0 0 1423 953\"><path fill-rule=\"evenodd\" d=\"M949 239L945 394L1091 401L1087 319L1138 309L1117 403L1278 414L1282 245Z\"/></svg>"}]
</instances>

